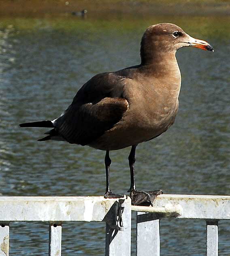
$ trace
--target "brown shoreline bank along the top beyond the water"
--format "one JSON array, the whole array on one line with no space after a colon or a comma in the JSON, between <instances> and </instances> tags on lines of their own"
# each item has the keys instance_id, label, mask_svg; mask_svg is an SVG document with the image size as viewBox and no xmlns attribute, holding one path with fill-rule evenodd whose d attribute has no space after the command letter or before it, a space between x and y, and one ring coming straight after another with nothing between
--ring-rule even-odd
<instances>
[{"instance_id":1,"label":"brown shoreline bank along the top beyond the water","mask_svg":"<svg viewBox=\"0 0 230 256\"><path fill-rule=\"evenodd\" d=\"M0 0L0 15L39 16L71 14L87 9L87 15L230 15L230 0Z\"/></svg>"}]
</instances>

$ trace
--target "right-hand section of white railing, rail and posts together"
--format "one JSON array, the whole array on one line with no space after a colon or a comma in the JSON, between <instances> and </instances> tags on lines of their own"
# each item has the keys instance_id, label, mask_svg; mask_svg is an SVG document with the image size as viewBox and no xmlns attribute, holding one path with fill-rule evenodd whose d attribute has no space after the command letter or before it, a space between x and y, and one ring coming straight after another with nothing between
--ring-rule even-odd
<instances>
[{"instance_id":1,"label":"right-hand section of white railing, rail and posts together","mask_svg":"<svg viewBox=\"0 0 230 256\"><path fill-rule=\"evenodd\" d=\"M153 207L132 209L137 211L137 256L160 256L160 219L170 215L206 220L206 256L218 256L218 221L230 220L230 196L163 194Z\"/></svg>"}]
</instances>

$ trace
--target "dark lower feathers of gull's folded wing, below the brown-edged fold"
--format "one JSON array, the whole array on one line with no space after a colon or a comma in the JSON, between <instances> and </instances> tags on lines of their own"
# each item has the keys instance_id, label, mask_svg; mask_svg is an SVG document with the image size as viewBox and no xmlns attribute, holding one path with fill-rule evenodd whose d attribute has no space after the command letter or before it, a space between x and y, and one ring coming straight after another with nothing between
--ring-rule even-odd
<instances>
[{"instance_id":1,"label":"dark lower feathers of gull's folded wing, below the brown-edged fold","mask_svg":"<svg viewBox=\"0 0 230 256\"><path fill-rule=\"evenodd\" d=\"M57 130L69 143L87 145L113 128L122 119L128 106L124 98L109 97L96 104L72 105L57 120Z\"/></svg>"}]
</instances>

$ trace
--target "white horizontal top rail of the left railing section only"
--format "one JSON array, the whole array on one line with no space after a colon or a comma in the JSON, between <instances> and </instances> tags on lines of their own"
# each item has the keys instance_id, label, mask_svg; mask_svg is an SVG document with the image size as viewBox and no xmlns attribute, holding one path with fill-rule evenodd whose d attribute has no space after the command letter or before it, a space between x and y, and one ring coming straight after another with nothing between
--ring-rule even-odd
<instances>
[{"instance_id":1,"label":"white horizontal top rail of the left railing section only","mask_svg":"<svg viewBox=\"0 0 230 256\"><path fill-rule=\"evenodd\" d=\"M125 197L126 198L126 197ZM103 221L115 202L103 196L0 196L0 222ZM128 199L130 201L130 198Z\"/></svg>"}]
</instances>

